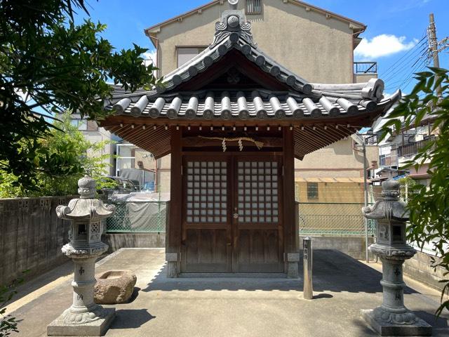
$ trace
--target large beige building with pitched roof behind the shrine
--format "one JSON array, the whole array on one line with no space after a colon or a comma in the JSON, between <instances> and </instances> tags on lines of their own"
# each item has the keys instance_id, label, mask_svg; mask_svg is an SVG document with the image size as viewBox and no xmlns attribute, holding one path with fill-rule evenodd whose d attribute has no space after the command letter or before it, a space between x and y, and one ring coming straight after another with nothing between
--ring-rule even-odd
<instances>
[{"instance_id":1,"label":"large beige building with pitched roof behind the shrine","mask_svg":"<svg viewBox=\"0 0 449 337\"><path fill-rule=\"evenodd\" d=\"M180 67L208 48L210 32L227 1L216 0L145 29L157 51L159 76ZM271 58L310 82L364 82L373 72L354 74L354 48L366 25L296 0L239 1L251 22L258 47ZM363 177L363 155L351 138L296 160L303 178ZM377 147L367 147L367 161L377 160ZM369 164L368 164L369 166ZM159 160L161 190L170 190L170 158Z\"/></svg>"}]
</instances>

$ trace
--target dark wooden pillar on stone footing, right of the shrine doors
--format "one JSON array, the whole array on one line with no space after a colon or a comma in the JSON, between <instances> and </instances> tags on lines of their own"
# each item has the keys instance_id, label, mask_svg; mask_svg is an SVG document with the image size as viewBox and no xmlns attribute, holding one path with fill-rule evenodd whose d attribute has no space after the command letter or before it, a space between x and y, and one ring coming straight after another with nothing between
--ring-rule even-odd
<instances>
[{"instance_id":1,"label":"dark wooden pillar on stone footing, right of the shrine doors","mask_svg":"<svg viewBox=\"0 0 449 337\"><path fill-rule=\"evenodd\" d=\"M295 153L293 130L283 128L283 230L287 276L298 277L299 228L295 219Z\"/></svg>"}]
</instances>

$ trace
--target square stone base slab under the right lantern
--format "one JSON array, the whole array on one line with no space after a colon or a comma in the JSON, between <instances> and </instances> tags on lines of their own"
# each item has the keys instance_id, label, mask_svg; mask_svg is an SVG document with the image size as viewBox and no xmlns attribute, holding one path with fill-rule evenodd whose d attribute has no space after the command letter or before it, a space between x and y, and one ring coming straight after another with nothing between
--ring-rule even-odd
<instances>
[{"instance_id":1,"label":"square stone base slab under the right lantern","mask_svg":"<svg viewBox=\"0 0 449 337\"><path fill-rule=\"evenodd\" d=\"M431 336L432 334L432 326L409 310L396 314L378 307L374 310L361 310L361 315L380 336Z\"/></svg>"}]
</instances>

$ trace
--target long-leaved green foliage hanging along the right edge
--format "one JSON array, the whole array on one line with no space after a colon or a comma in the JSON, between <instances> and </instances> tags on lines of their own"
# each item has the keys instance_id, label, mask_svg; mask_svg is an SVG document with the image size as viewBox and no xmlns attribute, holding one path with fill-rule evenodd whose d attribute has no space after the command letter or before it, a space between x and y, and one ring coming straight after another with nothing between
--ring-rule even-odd
<instances>
[{"instance_id":1,"label":"long-leaved green foliage hanging along the right edge","mask_svg":"<svg viewBox=\"0 0 449 337\"><path fill-rule=\"evenodd\" d=\"M410 223L408 239L421 247L433 244L439 258L433 259L433 266L447 270L443 279L441 305L437 310L449 310L449 70L429 68L429 72L416 74L417 84L389 114L390 121L383 128L384 136L401 128L418 126L423 117L435 117L432 132L437 135L430 140L408 166L418 169L429 163L431 176L429 186L416 185L408 197Z\"/></svg>"}]
</instances>

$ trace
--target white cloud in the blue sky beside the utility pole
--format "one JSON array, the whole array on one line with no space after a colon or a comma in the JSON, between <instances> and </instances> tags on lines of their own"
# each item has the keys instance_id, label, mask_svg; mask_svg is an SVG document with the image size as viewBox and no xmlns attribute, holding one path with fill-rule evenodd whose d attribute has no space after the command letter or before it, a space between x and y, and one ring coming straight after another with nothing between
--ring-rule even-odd
<instances>
[{"instance_id":1,"label":"white cloud in the blue sky beside the utility pole","mask_svg":"<svg viewBox=\"0 0 449 337\"><path fill-rule=\"evenodd\" d=\"M362 39L354 50L354 56L361 59L381 58L400 51L408 51L417 44L418 40L406 41L406 37L396 37L392 34L380 34L373 39Z\"/></svg>"}]
</instances>

